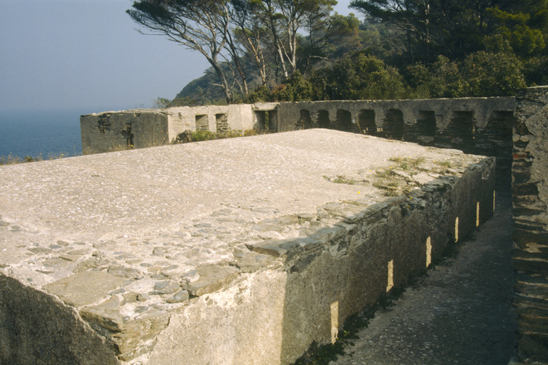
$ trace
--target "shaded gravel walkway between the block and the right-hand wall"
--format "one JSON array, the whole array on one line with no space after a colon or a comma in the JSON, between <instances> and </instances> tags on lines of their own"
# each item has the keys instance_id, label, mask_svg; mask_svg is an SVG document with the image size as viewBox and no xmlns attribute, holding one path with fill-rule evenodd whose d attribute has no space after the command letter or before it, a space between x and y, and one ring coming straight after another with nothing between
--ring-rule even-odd
<instances>
[{"instance_id":1,"label":"shaded gravel walkway between the block and the right-hand wall","mask_svg":"<svg viewBox=\"0 0 548 365\"><path fill-rule=\"evenodd\" d=\"M377 312L355 346L330 365L508 364L517 351L511 204L497 195L494 217L458 254Z\"/></svg>"}]
</instances>

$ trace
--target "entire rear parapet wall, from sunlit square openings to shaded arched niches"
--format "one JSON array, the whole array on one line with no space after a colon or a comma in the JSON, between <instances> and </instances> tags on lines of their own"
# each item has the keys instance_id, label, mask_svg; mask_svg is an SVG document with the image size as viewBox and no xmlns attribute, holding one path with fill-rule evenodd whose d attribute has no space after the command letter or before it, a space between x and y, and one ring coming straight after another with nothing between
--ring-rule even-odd
<instances>
[{"instance_id":1,"label":"entire rear parapet wall, from sunlit square openings to shaded arched niches","mask_svg":"<svg viewBox=\"0 0 548 365\"><path fill-rule=\"evenodd\" d=\"M497 186L509 189L514 98L315 101L125 110L82 115L84 154L177 143L185 130L329 128L455 148L497 158Z\"/></svg>"}]
</instances>

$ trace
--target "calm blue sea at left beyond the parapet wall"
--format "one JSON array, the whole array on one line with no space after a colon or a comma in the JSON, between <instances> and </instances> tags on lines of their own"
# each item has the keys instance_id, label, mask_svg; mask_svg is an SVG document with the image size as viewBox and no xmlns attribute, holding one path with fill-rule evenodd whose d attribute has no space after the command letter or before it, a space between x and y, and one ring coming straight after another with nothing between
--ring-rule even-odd
<instances>
[{"instance_id":1,"label":"calm blue sea at left beyond the parapet wall","mask_svg":"<svg viewBox=\"0 0 548 365\"><path fill-rule=\"evenodd\" d=\"M82 110L0 110L0 156L81 155L81 114L85 113Z\"/></svg>"}]
</instances>

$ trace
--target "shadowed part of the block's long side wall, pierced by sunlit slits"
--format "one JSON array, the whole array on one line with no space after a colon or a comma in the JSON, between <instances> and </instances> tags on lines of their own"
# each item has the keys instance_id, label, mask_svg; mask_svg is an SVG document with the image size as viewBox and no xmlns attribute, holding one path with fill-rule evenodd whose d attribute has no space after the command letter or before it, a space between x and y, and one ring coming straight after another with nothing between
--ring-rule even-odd
<instances>
[{"instance_id":1,"label":"shadowed part of the block's long side wall, pierced by sunlit slits","mask_svg":"<svg viewBox=\"0 0 548 365\"><path fill-rule=\"evenodd\" d=\"M482 173L477 170L451 181L417 198L424 205L392 198L368 207L352 222L340 222L351 224L350 230L323 228L288 257L281 364L292 364L309 344L334 343L347 317L405 286L447 245L492 217L494 174L478 185Z\"/></svg>"}]
</instances>

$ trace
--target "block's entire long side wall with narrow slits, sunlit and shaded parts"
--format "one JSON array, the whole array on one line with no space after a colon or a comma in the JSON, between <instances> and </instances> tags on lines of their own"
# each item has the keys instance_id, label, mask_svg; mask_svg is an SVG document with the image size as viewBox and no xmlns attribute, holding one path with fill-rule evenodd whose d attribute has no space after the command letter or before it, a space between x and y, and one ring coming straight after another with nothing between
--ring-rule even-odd
<instances>
[{"instance_id":1,"label":"block's entire long side wall with narrow slits, sunlit and shaded parts","mask_svg":"<svg viewBox=\"0 0 548 365\"><path fill-rule=\"evenodd\" d=\"M410 198L365 209L359 202L329 203L318 220L330 224L310 237L249 245L259 255L281 258L283 266L204 295L171 317L149 364L217 364L222 358L223 364L288 365L313 341L334 341L348 316L404 286L492 216L494 159L461 173L431 180ZM300 216L303 222L315 218Z\"/></svg>"}]
</instances>

